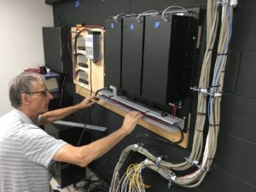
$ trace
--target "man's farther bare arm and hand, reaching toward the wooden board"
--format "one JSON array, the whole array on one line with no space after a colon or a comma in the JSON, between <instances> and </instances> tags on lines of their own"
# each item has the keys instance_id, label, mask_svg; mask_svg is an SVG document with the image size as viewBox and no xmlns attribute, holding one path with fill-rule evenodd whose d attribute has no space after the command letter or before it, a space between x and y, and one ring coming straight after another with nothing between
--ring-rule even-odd
<instances>
[{"instance_id":1,"label":"man's farther bare arm and hand, reaching toward the wooden board","mask_svg":"<svg viewBox=\"0 0 256 192\"><path fill-rule=\"evenodd\" d=\"M75 113L75 112L79 111L80 109L88 108L96 102L96 101L93 101L94 98L95 98L95 96L88 96L82 102L79 102L78 104L76 104L74 106L67 107L67 108L55 109L53 111L49 111L44 114L41 114L38 125L45 125L45 124L54 122L56 120L63 119L65 117L67 117L69 114Z\"/></svg>"}]
</instances>

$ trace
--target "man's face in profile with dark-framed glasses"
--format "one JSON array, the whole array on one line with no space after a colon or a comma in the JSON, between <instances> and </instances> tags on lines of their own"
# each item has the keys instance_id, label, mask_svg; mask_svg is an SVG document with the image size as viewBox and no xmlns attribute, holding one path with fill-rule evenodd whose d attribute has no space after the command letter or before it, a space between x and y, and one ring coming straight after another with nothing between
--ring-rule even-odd
<instances>
[{"instance_id":1,"label":"man's face in profile with dark-framed glasses","mask_svg":"<svg viewBox=\"0 0 256 192\"><path fill-rule=\"evenodd\" d=\"M49 100L53 96L47 90L45 84L40 81L33 82L32 92L29 93L29 108L32 113L42 114L48 111Z\"/></svg>"}]
</instances>

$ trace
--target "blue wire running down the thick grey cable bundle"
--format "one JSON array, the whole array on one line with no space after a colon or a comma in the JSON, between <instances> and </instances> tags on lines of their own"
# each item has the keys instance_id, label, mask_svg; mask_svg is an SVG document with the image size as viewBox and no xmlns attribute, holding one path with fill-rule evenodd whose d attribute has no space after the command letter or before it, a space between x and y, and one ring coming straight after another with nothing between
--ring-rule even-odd
<instances>
[{"instance_id":1,"label":"blue wire running down the thick grey cable bundle","mask_svg":"<svg viewBox=\"0 0 256 192\"><path fill-rule=\"evenodd\" d=\"M229 39L228 41L226 42L225 46L224 46L224 50L222 51L222 54L224 54L228 47L229 47L229 44L230 44L230 39L232 37L232 20L231 20L231 16L230 16L230 6L227 5L227 12L228 12L228 20L229 20L229 26L230 26L230 36L229 36ZM216 90L216 81L217 81L217 76L218 76L218 71L219 71L219 68L221 67L221 63L223 61L223 58L224 56L221 55L219 61L218 61L218 68L216 70L216 73L214 75L214 79L213 79L213 82L212 82L212 95L215 93L215 90ZM210 113L210 108L211 108L211 101L212 101L212 95L209 97L209 100L208 100L208 106L207 106L207 114L208 114L208 122L210 124L210 116L211 116L211 113Z\"/></svg>"}]
</instances>

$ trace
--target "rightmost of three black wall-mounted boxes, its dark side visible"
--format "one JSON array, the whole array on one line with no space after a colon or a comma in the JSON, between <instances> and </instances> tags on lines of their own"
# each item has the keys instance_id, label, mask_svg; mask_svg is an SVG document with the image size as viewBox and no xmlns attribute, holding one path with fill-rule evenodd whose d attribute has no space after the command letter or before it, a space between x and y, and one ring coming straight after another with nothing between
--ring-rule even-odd
<instances>
[{"instance_id":1,"label":"rightmost of three black wall-mounted boxes, its dark side visible","mask_svg":"<svg viewBox=\"0 0 256 192\"><path fill-rule=\"evenodd\" d=\"M146 16L142 96L154 102L189 97L194 68L196 22L193 17ZM139 82L137 82L139 84Z\"/></svg>"}]
</instances>

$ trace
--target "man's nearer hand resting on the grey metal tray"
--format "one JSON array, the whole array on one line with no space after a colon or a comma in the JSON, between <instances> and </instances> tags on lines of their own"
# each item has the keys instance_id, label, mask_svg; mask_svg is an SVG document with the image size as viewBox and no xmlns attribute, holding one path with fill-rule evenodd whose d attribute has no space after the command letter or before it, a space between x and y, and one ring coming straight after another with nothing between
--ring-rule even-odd
<instances>
[{"instance_id":1,"label":"man's nearer hand resting on the grey metal tray","mask_svg":"<svg viewBox=\"0 0 256 192\"><path fill-rule=\"evenodd\" d=\"M137 125L138 120L142 117L143 114L136 111L131 111L130 113L125 114L125 119L121 129L123 129L127 135L130 134Z\"/></svg>"}]
</instances>

